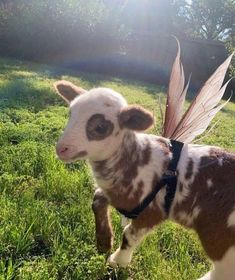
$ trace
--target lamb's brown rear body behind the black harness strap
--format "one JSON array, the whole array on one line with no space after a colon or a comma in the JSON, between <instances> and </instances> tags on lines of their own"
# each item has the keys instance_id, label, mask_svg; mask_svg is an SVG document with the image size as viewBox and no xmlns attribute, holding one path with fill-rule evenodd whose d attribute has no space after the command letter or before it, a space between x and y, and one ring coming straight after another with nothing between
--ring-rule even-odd
<instances>
[{"instance_id":1,"label":"lamb's brown rear body behind the black harness strap","mask_svg":"<svg viewBox=\"0 0 235 280\"><path fill-rule=\"evenodd\" d=\"M186 146L171 218L195 229L208 256L218 261L235 246L234 210L235 155Z\"/></svg>"}]
</instances>

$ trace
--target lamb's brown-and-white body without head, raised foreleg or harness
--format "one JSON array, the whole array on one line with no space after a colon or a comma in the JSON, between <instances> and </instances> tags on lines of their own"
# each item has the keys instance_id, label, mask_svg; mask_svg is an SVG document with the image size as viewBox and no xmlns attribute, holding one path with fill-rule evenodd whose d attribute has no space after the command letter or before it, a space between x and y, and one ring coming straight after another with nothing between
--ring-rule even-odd
<instances>
[{"instance_id":1,"label":"lamb's brown-and-white body without head, raised foreleg or harness","mask_svg":"<svg viewBox=\"0 0 235 280\"><path fill-rule=\"evenodd\" d=\"M168 139L128 133L113 156L91 164L109 203L131 210L156 186L171 157ZM235 258L235 155L215 147L185 145L177 173L177 190L169 218L198 233L215 265L215 271L205 279L234 279L231 260ZM126 244L111 256L111 263L128 263L139 243L136 240L168 218L164 211L165 194L163 188L132 221L132 228L127 227ZM133 231L140 237L130 238Z\"/></svg>"}]
</instances>

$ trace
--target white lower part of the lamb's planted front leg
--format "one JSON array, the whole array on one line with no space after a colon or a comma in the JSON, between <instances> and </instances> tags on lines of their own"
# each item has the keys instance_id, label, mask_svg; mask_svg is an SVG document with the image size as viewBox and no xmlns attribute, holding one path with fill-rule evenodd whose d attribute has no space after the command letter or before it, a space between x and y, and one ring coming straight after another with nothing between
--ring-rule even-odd
<instances>
[{"instance_id":1,"label":"white lower part of the lamb's planted front leg","mask_svg":"<svg viewBox=\"0 0 235 280\"><path fill-rule=\"evenodd\" d=\"M133 223L127 225L123 231L121 246L109 257L108 263L113 266L126 267L130 262L134 249L141 243L150 229L137 229Z\"/></svg>"}]
</instances>

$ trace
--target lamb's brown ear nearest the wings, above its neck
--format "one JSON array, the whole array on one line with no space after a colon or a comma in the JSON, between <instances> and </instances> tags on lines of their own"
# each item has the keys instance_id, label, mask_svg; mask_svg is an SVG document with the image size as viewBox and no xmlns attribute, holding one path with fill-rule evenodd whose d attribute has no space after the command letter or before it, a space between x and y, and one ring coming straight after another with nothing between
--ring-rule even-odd
<instances>
[{"instance_id":1,"label":"lamb's brown ear nearest the wings, above its neck","mask_svg":"<svg viewBox=\"0 0 235 280\"><path fill-rule=\"evenodd\" d=\"M141 106L131 105L119 113L119 125L121 128L141 131L148 129L154 122L153 115Z\"/></svg>"}]
</instances>

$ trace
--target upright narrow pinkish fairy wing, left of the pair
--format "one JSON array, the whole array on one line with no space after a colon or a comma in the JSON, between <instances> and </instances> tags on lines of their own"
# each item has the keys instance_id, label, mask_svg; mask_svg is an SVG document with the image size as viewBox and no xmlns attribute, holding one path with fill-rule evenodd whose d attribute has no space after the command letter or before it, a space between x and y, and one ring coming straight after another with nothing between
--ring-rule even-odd
<instances>
[{"instance_id":1,"label":"upright narrow pinkish fairy wing, left of the pair","mask_svg":"<svg viewBox=\"0 0 235 280\"><path fill-rule=\"evenodd\" d=\"M185 95L189 84L188 82L185 86L184 69L180 61L180 44L178 39L175 39L178 44L178 52L171 70L163 125L163 136L168 138L171 137L182 118Z\"/></svg>"}]
</instances>

